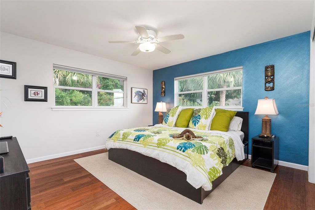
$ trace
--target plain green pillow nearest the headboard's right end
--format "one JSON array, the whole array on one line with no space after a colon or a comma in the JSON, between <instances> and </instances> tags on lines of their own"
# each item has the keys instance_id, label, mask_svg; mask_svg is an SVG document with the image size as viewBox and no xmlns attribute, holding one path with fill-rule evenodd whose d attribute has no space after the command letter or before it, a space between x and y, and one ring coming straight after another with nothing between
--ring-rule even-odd
<instances>
[{"instance_id":1,"label":"plain green pillow nearest the headboard's right end","mask_svg":"<svg viewBox=\"0 0 315 210\"><path fill-rule=\"evenodd\" d=\"M212 131L228 131L231 120L235 116L236 112L226 109L215 109L215 116L211 122Z\"/></svg>"}]
</instances>

